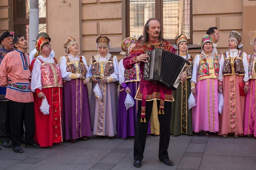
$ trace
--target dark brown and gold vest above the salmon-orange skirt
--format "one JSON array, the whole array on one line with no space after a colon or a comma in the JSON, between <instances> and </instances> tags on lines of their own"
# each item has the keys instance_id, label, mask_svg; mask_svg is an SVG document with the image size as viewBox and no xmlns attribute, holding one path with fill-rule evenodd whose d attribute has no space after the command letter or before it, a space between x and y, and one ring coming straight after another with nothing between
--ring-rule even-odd
<instances>
[{"instance_id":1,"label":"dark brown and gold vest above the salmon-orange skirt","mask_svg":"<svg viewBox=\"0 0 256 170\"><path fill-rule=\"evenodd\" d=\"M243 64L243 57L244 52L241 51L239 57L236 58L227 58L227 52L223 53L224 57L224 66L223 66L223 76L227 75L244 75L244 64Z\"/></svg>"}]
</instances>

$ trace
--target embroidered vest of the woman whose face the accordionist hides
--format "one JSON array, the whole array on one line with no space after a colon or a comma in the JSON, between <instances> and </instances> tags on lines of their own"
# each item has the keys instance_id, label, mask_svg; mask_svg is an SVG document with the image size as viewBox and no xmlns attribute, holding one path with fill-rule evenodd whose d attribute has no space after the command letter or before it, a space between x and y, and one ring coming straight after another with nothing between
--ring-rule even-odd
<instances>
[{"instance_id":1,"label":"embroidered vest of the woman whose face the accordionist hides","mask_svg":"<svg viewBox=\"0 0 256 170\"><path fill-rule=\"evenodd\" d=\"M134 64L134 67L129 70L125 69L125 82L139 82L140 79L140 63Z\"/></svg>"}]
</instances>

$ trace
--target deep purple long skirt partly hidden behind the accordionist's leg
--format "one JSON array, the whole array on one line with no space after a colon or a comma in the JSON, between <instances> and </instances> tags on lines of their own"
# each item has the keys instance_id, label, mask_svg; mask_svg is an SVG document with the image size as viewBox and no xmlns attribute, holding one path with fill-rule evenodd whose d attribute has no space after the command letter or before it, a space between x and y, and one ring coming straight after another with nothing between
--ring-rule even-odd
<instances>
[{"instance_id":1,"label":"deep purple long skirt partly hidden behind the accordionist's leg","mask_svg":"<svg viewBox=\"0 0 256 170\"><path fill-rule=\"evenodd\" d=\"M131 97L134 99L140 82L127 82L126 85L131 90ZM125 108L125 90L119 92L118 111L117 111L117 137L127 138L135 135L137 100L134 99L134 106L126 111ZM148 134L151 133L150 124L148 125Z\"/></svg>"}]
</instances>

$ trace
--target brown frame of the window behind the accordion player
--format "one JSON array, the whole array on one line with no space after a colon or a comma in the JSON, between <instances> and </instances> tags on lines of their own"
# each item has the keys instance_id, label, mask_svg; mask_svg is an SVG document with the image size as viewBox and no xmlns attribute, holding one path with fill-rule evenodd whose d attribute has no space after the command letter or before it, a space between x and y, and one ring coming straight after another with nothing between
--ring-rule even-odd
<instances>
[{"instance_id":1,"label":"brown frame of the window behind the accordion player","mask_svg":"<svg viewBox=\"0 0 256 170\"><path fill-rule=\"evenodd\" d=\"M188 39L188 43L193 43L193 13L192 13L192 0L189 3L190 7L190 38ZM161 26L163 26L163 0L155 0L155 18L160 21ZM126 37L130 37L130 0L125 0L125 35ZM163 31L163 28L161 28ZM175 39L168 39L171 44L175 44Z\"/></svg>"}]
</instances>

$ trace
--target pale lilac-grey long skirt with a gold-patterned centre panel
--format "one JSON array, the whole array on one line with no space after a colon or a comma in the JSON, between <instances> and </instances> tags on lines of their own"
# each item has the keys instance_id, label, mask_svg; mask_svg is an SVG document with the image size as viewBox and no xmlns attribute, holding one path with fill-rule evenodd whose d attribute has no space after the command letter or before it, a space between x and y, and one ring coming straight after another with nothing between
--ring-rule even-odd
<instances>
[{"instance_id":1,"label":"pale lilac-grey long skirt with a gold-patterned centre panel","mask_svg":"<svg viewBox=\"0 0 256 170\"><path fill-rule=\"evenodd\" d=\"M93 82L90 96L93 135L115 136L118 106L117 84L116 82L99 83L102 92L101 100L94 95L95 85L96 83Z\"/></svg>"}]
</instances>

